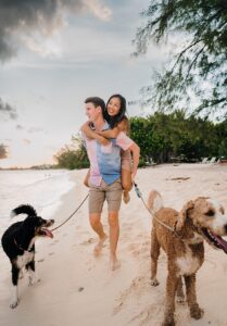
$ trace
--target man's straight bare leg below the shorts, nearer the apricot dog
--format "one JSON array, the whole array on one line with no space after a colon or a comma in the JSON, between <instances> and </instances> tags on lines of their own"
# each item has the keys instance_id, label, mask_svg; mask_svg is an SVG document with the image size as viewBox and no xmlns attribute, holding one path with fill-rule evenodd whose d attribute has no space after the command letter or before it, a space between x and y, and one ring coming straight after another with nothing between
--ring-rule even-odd
<instances>
[{"instance_id":1,"label":"man's straight bare leg below the shorts, nearer the apricot dog","mask_svg":"<svg viewBox=\"0 0 227 326\"><path fill-rule=\"evenodd\" d=\"M119 238L119 223L118 211L109 212L109 225L110 225L110 263L111 269L114 271L119 267L119 261L116 256L116 248Z\"/></svg>"}]
</instances>

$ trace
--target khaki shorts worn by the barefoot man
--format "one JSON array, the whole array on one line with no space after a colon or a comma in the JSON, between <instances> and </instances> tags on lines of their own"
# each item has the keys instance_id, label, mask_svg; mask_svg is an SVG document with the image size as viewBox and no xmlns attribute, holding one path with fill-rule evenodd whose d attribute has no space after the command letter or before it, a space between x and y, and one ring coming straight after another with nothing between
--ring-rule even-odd
<instances>
[{"instance_id":1,"label":"khaki shorts worn by the barefoot man","mask_svg":"<svg viewBox=\"0 0 227 326\"><path fill-rule=\"evenodd\" d=\"M122 202L122 183L121 178L111 185L106 185L102 179L100 186L93 186L89 183L89 213L101 213L103 203L106 199L108 211L118 212Z\"/></svg>"}]
</instances>

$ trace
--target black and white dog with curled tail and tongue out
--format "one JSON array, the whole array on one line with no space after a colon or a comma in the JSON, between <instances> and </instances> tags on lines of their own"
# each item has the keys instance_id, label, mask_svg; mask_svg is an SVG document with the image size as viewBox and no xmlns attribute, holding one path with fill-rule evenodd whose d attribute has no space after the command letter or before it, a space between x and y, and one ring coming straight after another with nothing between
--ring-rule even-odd
<instances>
[{"instance_id":1,"label":"black and white dog with curled tail and tongue out","mask_svg":"<svg viewBox=\"0 0 227 326\"><path fill-rule=\"evenodd\" d=\"M52 238L52 233L47 229L53 220L43 220L37 216L35 209L30 205L21 205L12 211L12 216L27 214L23 222L12 224L3 234L1 243L4 252L12 264L13 296L10 306L18 304L17 283L22 268L25 267L29 274L28 286L36 283L35 277L35 238L45 236Z\"/></svg>"}]
</instances>

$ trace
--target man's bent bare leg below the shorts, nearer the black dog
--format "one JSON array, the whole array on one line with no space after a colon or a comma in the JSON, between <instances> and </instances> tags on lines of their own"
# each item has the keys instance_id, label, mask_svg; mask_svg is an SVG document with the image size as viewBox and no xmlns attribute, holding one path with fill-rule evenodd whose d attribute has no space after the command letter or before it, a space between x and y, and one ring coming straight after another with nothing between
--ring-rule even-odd
<instances>
[{"instance_id":1,"label":"man's bent bare leg below the shorts, nearer the black dog","mask_svg":"<svg viewBox=\"0 0 227 326\"><path fill-rule=\"evenodd\" d=\"M101 213L91 213L89 215L89 220L90 220L90 225L91 225L92 229L99 236L99 241L93 249L93 253L96 255L99 255L102 251L103 243L104 243L105 239L108 238L108 236L105 235L105 233L103 230L103 226L101 223Z\"/></svg>"}]
</instances>

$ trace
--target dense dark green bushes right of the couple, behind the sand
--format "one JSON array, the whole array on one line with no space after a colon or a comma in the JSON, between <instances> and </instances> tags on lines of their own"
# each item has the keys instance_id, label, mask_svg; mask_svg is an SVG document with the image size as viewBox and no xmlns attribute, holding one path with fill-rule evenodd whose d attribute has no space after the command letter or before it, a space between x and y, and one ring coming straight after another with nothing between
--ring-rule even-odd
<instances>
[{"instance_id":1,"label":"dense dark green bushes right of the couple, behind the sand","mask_svg":"<svg viewBox=\"0 0 227 326\"><path fill-rule=\"evenodd\" d=\"M227 121L214 124L196 116L187 118L184 111L131 117L130 126L130 137L140 146L141 162L148 156L156 163L218 156L227 138Z\"/></svg>"}]
</instances>

